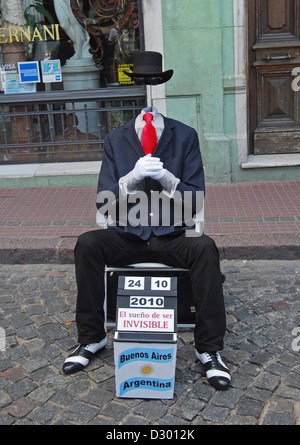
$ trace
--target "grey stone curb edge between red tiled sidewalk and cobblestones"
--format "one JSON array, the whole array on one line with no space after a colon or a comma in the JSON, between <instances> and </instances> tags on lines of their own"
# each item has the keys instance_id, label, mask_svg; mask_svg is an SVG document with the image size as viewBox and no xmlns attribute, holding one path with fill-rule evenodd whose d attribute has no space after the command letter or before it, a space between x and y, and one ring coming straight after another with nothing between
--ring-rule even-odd
<instances>
[{"instance_id":1,"label":"grey stone curb edge between red tiled sidewalk and cobblestones","mask_svg":"<svg viewBox=\"0 0 300 445\"><path fill-rule=\"evenodd\" d=\"M210 235L221 260L300 258L300 236L295 234ZM0 264L72 264L77 237L0 238Z\"/></svg>"}]
</instances>

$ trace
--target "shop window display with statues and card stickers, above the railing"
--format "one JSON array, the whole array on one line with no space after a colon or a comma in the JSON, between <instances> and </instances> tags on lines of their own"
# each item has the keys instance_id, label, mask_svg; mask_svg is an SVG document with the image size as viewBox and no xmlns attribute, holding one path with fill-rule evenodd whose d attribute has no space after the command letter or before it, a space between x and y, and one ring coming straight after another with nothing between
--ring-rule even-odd
<instances>
[{"instance_id":1,"label":"shop window display with statues and card stickers, above the railing","mask_svg":"<svg viewBox=\"0 0 300 445\"><path fill-rule=\"evenodd\" d=\"M0 0L4 94L134 85L139 0Z\"/></svg>"}]
</instances>

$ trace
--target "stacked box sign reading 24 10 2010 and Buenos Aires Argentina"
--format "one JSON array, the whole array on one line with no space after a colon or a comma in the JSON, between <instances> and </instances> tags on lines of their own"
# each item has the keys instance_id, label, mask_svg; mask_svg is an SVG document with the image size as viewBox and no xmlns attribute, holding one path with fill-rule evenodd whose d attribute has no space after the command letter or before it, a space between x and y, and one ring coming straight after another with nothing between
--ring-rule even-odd
<instances>
[{"instance_id":1,"label":"stacked box sign reading 24 10 2010 and Buenos Aires Argentina","mask_svg":"<svg viewBox=\"0 0 300 445\"><path fill-rule=\"evenodd\" d=\"M117 397L172 399L176 277L120 276L114 342Z\"/></svg>"}]
</instances>

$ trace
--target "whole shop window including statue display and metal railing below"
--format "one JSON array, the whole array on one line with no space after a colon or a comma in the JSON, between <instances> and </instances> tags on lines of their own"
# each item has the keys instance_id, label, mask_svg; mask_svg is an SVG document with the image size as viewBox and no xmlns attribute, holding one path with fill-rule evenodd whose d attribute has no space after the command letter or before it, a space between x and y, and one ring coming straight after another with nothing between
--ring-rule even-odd
<instances>
[{"instance_id":1,"label":"whole shop window including statue display and metal railing below","mask_svg":"<svg viewBox=\"0 0 300 445\"><path fill-rule=\"evenodd\" d=\"M145 106L141 0L0 0L0 164L102 159ZM22 94L30 93L30 94Z\"/></svg>"}]
</instances>

